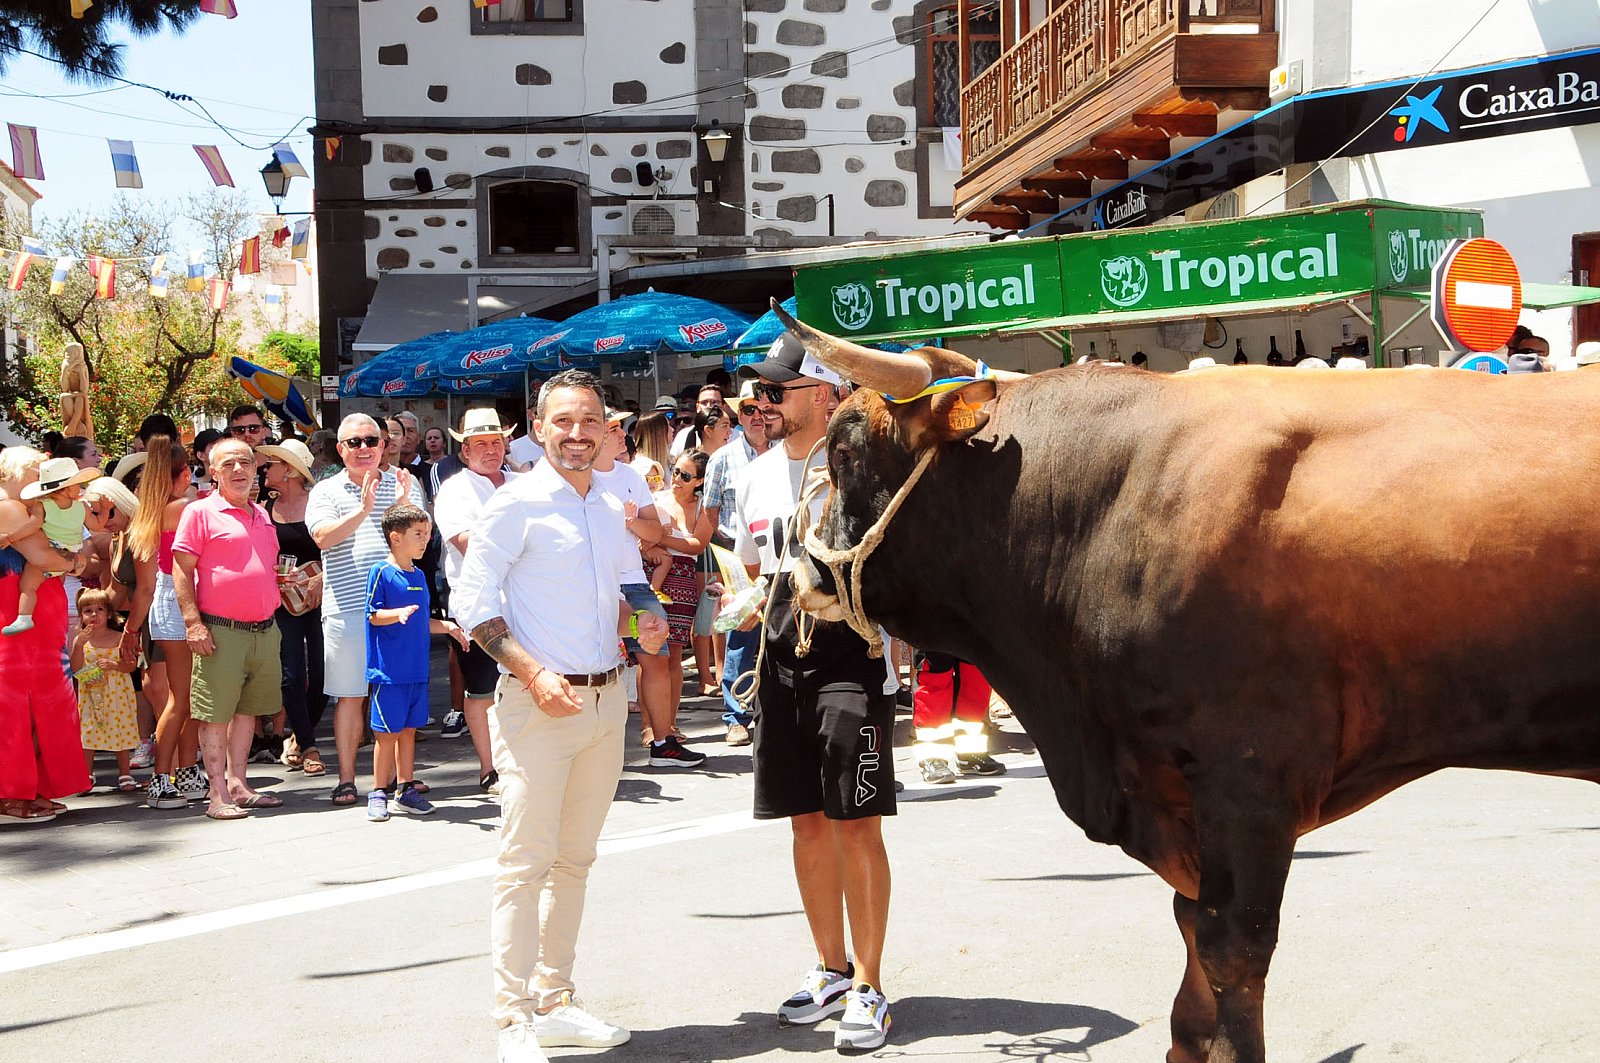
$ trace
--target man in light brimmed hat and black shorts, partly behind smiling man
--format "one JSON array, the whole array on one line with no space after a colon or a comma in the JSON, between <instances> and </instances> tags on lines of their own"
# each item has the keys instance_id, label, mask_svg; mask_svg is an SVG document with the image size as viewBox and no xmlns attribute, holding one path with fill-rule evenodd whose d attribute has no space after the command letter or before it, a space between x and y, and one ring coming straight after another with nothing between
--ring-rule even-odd
<instances>
[{"instance_id":1,"label":"man in light brimmed hat and black shorts, partly behind smiling man","mask_svg":"<svg viewBox=\"0 0 1600 1063\"><path fill-rule=\"evenodd\" d=\"M466 467L438 485L434 522L445 540L445 580L451 586L461 578L461 562L466 560L467 543L472 541L478 514L494 491L517 475L506 471L506 437L510 432L512 429L501 426L499 413L491 407L467 410L461 415L461 431L450 431L461 443L461 463ZM454 605L450 612L451 618L461 623L461 613ZM472 749L478 754L478 789L486 794L499 786L499 775L490 756L490 704L494 701L499 668L477 644L462 650L459 644L451 642L450 652L456 655L456 664L461 668L464 687L461 709L467 733L472 736ZM454 724L454 728L448 727L450 724ZM459 720L446 720L445 736L459 735Z\"/></svg>"}]
</instances>

